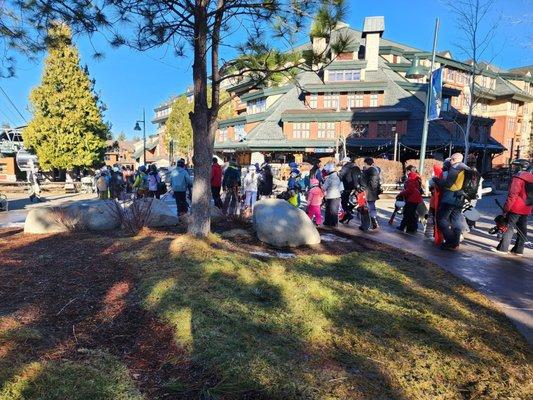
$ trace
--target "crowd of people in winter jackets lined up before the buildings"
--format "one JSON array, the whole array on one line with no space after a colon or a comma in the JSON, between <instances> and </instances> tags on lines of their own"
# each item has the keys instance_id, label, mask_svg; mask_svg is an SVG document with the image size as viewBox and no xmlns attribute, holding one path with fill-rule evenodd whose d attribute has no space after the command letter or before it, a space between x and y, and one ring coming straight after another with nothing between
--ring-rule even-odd
<instances>
[{"instance_id":1,"label":"crowd of people in winter jackets lined up before the buildings","mask_svg":"<svg viewBox=\"0 0 533 400\"><path fill-rule=\"evenodd\" d=\"M316 160L307 174L295 162L289 164L290 173L286 190L277 194L294 207L304 208L316 225L335 228L339 223L349 224L359 217L363 232L380 228L376 202L383 193L381 171L374 159L364 159L363 168L355 159L345 157L340 163L322 165ZM493 251L507 253L513 234L517 235L511 253L521 255L527 242L527 217L533 209L533 166L527 161L517 165L518 173L510 184L509 195L496 218L495 231L501 241ZM423 196L423 182L415 166L409 165L403 179L403 190L396 197L396 209L402 210L397 230L414 234L419 224L424 226L426 238L443 250L459 248L465 230L473 226L465 216L480 198L481 177L463 163L460 153L446 159L442 166L435 164L429 180L429 209ZM193 179L180 159L163 181L155 165L103 168L96 176L96 188L101 199L122 199L127 196L160 198L172 193L179 215L188 212ZM222 166L214 157L211 167L211 194L214 206L226 215L250 217L254 205L263 197L274 195L274 177L268 162L241 167L235 160ZM322 212L324 210L324 212Z\"/></svg>"}]
</instances>

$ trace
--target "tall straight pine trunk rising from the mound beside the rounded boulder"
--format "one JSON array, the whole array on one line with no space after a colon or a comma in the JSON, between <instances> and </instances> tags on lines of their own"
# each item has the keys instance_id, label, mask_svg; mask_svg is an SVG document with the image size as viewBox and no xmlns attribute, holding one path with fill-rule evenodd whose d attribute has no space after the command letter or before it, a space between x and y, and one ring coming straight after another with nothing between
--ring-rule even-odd
<instances>
[{"instance_id":1,"label":"tall straight pine trunk rising from the mound beside the rounded boulder","mask_svg":"<svg viewBox=\"0 0 533 400\"><path fill-rule=\"evenodd\" d=\"M195 7L194 35L194 111L191 113L193 131L194 185L192 190L191 218L188 232L197 237L207 237L211 226L211 158L213 131L210 129L210 110L207 104L207 7L206 2Z\"/></svg>"}]
</instances>

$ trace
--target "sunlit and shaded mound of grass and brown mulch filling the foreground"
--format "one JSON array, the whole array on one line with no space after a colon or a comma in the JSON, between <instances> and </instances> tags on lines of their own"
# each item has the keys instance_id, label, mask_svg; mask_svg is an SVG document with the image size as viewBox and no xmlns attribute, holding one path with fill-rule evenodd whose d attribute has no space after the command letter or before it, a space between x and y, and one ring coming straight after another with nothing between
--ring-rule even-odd
<instances>
[{"instance_id":1,"label":"sunlit and shaded mound of grass and brown mulch filling the foreground","mask_svg":"<svg viewBox=\"0 0 533 400\"><path fill-rule=\"evenodd\" d=\"M0 399L527 399L489 301L377 243L0 239Z\"/></svg>"}]
</instances>

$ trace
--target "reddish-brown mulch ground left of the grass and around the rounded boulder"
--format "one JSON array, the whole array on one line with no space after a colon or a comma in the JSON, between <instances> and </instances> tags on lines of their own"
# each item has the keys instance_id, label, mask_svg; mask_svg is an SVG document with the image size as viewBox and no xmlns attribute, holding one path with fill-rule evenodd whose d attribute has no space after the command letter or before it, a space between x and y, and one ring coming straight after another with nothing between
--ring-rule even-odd
<instances>
[{"instance_id":1,"label":"reddish-brown mulch ground left of the grass and around the rounded boulder","mask_svg":"<svg viewBox=\"0 0 533 400\"><path fill-rule=\"evenodd\" d=\"M229 250L279 251L259 242L249 222L223 221L213 226L217 233L231 229L249 234L225 239L222 245ZM183 227L177 227L150 230L141 236L171 241L183 232ZM325 229L321 234L347 237ZM170 377L186 380L188 368L186 362L180 366L167 362L169 358L184 358L182 351L175 345L173 328L140 307L134 290L138 270L120 257L128 251L126 246L117 245L121 236L24 235L20 229L0 230L0 317L12 316L42 334L42 340L25 346L24 362L77 360L83 357L83 349L103 349L128 366L147 398L173 398L164 383ZM282 251L337 255L386 250L371 240L349 239ZM398 250L390 251L398 254Z\"/></svg>"}]
</instances>

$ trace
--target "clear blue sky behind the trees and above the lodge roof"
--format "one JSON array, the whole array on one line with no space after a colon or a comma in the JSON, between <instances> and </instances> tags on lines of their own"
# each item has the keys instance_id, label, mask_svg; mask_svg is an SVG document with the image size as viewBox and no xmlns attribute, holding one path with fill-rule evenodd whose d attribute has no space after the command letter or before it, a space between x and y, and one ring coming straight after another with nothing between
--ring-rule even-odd
<instances>
[{"instance_id":1,"label":"clear blue sky behind the trees and above the lodge roof","mask_svg":"<svg viewBox=\"0 0 533 400\"><path fill-rule=\"evenodd\" d=\"M409 8L408 8L409 7ZM431 49L435 17L441 19L438 50L451 50L454 56L463 59L454 43L460 41L454 16L440 0L348 0L345 18L350 26L361 29L365 16L384 15L387 39L409 44L422 49ZM490 17L500 20L497 37L489 50L494 63L503 68L533 64L533 0L496 0ZM142 117L146 108L147 134L155 132L149 121L153 108L171 95L183 92L190 85L191 59L175 58L162 49L138 53L121 48L111 49L96 43L105 58L94 60L93 48L87 39L76 39L82 63L88 64L91 76L96 79L96 89L106 103L105 118L113 125L114 134L124 131L134 135L135 121ZM44 57L44 55L43 55ZM28 111L28 95L38 85L42 62L30 63L19 57L17 76L0 79L0 86L25 116ZM22 118L0 93L0 122L22 124Z\"/></svg>"}]
</instances>

